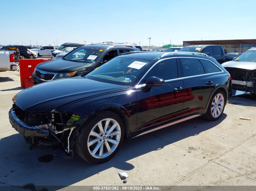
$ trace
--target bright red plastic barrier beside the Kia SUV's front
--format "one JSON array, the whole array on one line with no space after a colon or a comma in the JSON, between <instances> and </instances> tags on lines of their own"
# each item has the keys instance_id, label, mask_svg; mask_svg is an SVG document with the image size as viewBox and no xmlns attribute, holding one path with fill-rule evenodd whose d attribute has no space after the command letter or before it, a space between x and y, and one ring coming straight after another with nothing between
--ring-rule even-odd
<instances>
[{"instance_id":1,"label":"bright red plastic barrier beside the Kia SUV's front","mask_svg":"<svg viewBox=\"0 0 256 191\"><path fill-rule=\"evenodd\" d=\"M31 76L36 65L49 60L53 59L19 59L21 87L28 88L34 85Z\"/></svg>"}]
</instances>

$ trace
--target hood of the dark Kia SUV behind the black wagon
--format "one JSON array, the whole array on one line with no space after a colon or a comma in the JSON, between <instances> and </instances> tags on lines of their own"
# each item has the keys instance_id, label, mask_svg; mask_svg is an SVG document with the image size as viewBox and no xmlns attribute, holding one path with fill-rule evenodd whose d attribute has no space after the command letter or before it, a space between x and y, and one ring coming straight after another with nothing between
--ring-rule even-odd
<instances>
[{"instance_id":1,"label":"hood of the dark Kia SUV behind the black wagon","mask_svg":"<svg viewBox=\"0 0 256 191\"><path fill-rule=\"evenodd\" d=\"M89 65L92 65L92 63L55 59L38 64L36 69L46 72L74 72L86 68L87 66L89 67Z\"/></svg>"}]
</instances>

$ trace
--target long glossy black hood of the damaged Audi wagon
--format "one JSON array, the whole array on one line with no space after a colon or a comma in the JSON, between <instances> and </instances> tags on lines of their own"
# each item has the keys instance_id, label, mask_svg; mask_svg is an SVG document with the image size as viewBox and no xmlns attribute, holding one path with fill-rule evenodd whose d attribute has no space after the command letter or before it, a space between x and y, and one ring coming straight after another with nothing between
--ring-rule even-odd
<instances>
[{"instance_id":1,"label":"long glossy black hood of the damaged Audi wagon","mask_svg":"<svg viewBox=\"0 0 256 191\"><path fill-rule=\"evenodd\" d=\"M83 77L65 78L31 86L15 95L15 104L26 111L50 112L75 100L109 93L128 86Z\"/></svg>"}]
</instances>

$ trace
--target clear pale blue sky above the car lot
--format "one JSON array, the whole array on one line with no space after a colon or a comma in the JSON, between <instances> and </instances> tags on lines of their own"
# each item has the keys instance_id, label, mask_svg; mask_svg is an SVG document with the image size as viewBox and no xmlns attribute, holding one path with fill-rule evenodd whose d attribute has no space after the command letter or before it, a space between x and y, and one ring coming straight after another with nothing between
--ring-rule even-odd
<instances>
[{"instance_id":1,"label":"clear pale blue sky above the car lot","mask_svg":"<svg viewBox=\"0 0 256 191\"><path fill-rule=\"evenodd\" d=\"M255 39L255 7L255 0L0 0L0 44Z\"/></svg>"}]
</instances>

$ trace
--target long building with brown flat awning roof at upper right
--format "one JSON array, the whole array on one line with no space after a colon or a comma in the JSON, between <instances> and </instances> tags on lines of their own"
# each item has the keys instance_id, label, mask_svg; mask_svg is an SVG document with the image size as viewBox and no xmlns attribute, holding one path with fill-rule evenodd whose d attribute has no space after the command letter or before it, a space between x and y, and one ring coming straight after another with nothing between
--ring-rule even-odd
<instances>
[{"instance_id":1,"label":"long building with brown flat awning roof at upper right","mask_svg":"<svg viewBox=\"0 0 256 191\"><path fill-rule=\"evenodd\" d=\"M183 41L183 46L199 44L221 45L226 53L243 53L250 48L256 47L256 39Z\"/></svg>"}]
</instances>

